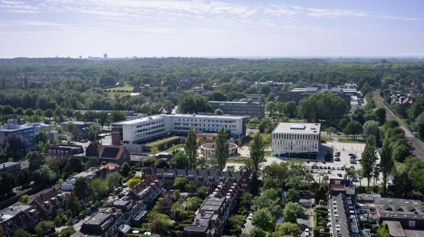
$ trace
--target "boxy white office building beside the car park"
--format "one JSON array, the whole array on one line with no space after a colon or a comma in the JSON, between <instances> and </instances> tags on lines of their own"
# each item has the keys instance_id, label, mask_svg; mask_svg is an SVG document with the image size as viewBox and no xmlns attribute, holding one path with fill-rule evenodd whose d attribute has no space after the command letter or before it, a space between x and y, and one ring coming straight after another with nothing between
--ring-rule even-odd
<instances>
[{"instance_id":1,"label":"boxy white office building beside the car park","mask_svg":"<svg viewBox=\"0 0 424 237\"><path fill-rule=\"evenodd\" d=\"M272 135L272 154L290 157L299 153L319 153L319 123L279 123Z\"/></svg>"}]
</instances>

